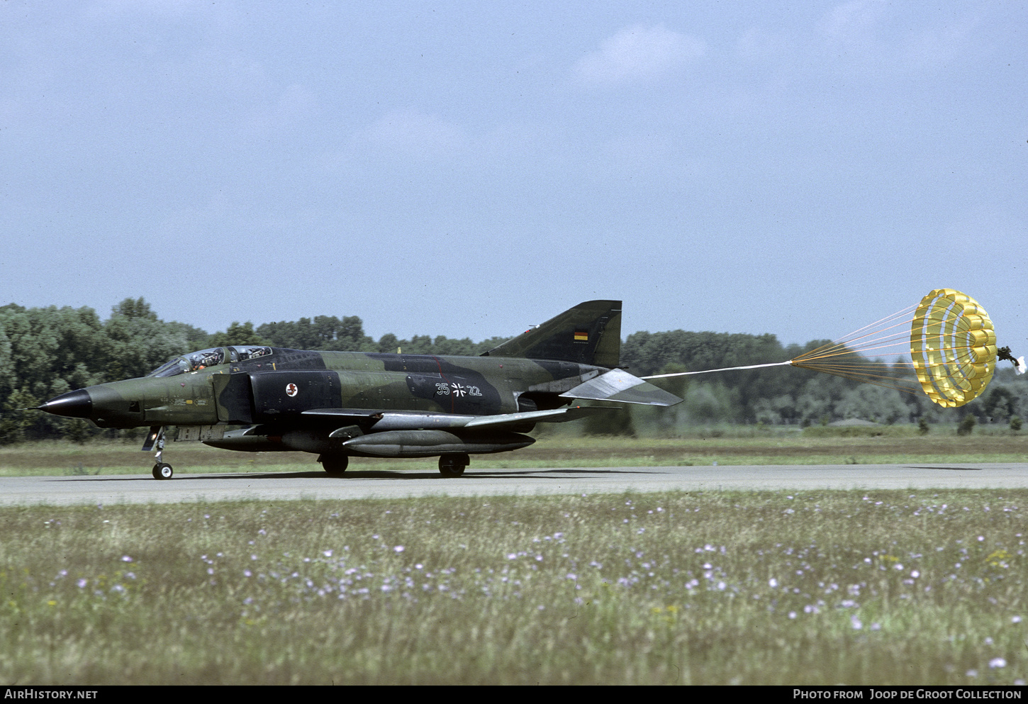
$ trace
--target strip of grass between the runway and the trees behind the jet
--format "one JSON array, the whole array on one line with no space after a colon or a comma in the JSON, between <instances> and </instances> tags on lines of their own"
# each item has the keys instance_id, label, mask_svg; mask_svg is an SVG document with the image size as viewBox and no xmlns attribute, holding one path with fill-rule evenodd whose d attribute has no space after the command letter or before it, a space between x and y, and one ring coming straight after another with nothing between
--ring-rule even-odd
<instances>
[{"instance_id":1,"label":"strip of grass between the runway and the trees behind the jet","mask_svg":"<svg viewBox=\"0 0 1028 704\"><path fill-rule=\"evenodd\" d=\"M231 452L201 443L169 442L164 460L177 474L320 470L316 455L302 452ZM548 434L516 452L475 455L471 469L538 467L654 467L719 465L857 465L900 462L1028 461L1028 433L977 431L960 437L955 428L920 435L915 428L808 429L770 432L746 428L697 429L682 438L583 438ZM434 468L435 459L354 457L355 469ZM152 454L139 443L38 442L0 447L0 476L147 473Z\"/></svg>"}]
</instances>

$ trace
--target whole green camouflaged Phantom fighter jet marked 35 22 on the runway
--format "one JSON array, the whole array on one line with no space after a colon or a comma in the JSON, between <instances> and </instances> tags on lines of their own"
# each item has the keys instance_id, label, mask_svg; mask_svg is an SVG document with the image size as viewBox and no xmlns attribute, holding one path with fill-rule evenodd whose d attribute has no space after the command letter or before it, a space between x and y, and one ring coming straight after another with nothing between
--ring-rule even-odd
<instances>
[{"instance_id":1,"label":"whole green camouflaged Phantom fighter jet marked 35 22 on the runway","mask_svg":"<svg viewBox=\"0 0 1028 704\"><path fill-rule=\"evenodd\" d=\"M161 459L172 425L179 440L229 450L314 452L329 474L351 456L438 456L443 476L457 477L471 454L534 443L525 433L538 422L612 408L577 400L682 401L620 369L620 355L621 301L587 301L481 357L214 347L38 409L100 428L149 427L143 450L157 448L155 479L172 477Z\"/></svg>"}]
</instances>

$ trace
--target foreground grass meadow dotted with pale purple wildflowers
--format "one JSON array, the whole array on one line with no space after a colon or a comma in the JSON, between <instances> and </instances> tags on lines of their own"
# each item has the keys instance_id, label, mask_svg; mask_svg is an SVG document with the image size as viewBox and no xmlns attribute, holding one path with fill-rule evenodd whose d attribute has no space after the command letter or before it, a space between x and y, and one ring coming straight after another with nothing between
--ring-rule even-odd
<instances>
[{"instance_id":1,"label":"foreground grass meadow dotted with pale purple wildflowers","mask_svg":"<svg viewBox=\"0 0 1028 704\"><path fill-rule=\"evenodd\" d=\"M1024 490L0 509L8 683L1023 683Z\"/></svg>"}]
</instances>

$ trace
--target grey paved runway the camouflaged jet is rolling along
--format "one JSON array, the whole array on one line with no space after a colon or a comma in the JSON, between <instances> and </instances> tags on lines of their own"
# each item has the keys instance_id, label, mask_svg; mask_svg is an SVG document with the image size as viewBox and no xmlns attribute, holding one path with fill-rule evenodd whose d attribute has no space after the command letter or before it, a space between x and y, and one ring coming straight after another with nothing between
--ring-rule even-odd
<instances>
[{"instance_id":1,"label":"grey paved runway the camouflaged jet is rolling along","mask_svg":"<svg viewBox=\"0 0 1028 704\"><path fill-rule=\"evenodd\" d=\"M1026 488L1028 464L782 465L177 474L0 478L0 506L174 504L414 496L596 494L625 491Z\"/></svg>"}]
</instances>

